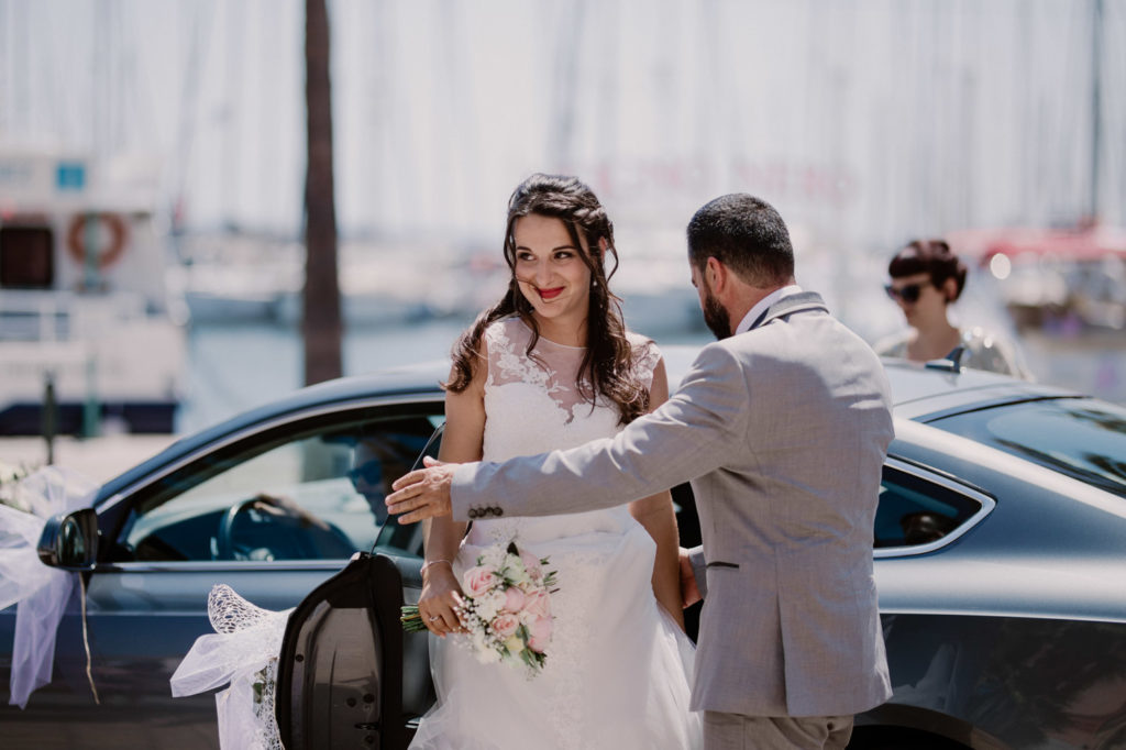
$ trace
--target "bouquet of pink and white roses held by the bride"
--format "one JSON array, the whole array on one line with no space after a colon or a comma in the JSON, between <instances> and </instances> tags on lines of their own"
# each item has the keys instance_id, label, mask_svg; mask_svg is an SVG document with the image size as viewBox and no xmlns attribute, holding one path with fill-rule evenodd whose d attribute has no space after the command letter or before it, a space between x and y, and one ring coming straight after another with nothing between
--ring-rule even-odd
<instances>
[{"instance_id":1,"label":"bouquet of pink and white roses held by the bride","mask_svg":"<svg viewBox=\"0 0 1126 750\"><path fill-rule=\"evenodd\" d=\"M545 565L546 557L538 560L509 542L485 547L476 565L462 575L464 604L457 616L467 632L456 635L477 661L522 666L529 677L543 669L552 639L549 596L555 583L555 571ZM418 605L403 607L400 620L408 633L426 630Z\"/></svg>"}]
</instances>

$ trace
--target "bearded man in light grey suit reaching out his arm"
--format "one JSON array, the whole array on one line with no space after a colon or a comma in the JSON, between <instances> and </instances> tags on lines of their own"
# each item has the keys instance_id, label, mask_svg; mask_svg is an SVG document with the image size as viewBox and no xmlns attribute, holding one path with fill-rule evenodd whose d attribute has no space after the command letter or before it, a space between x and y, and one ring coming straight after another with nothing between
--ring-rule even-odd
<instances>
[{"instance_id":1,"label":"bearded man in light grey suit reaching out his arm","mask_svg":"<svg viewBox=\"0 0 1126 750\"><path fill-rule=\"evenodd\" d=\"M873 523L892 439L878 358L794 284L789 233L749 195L688 225L720 339L679 391L613 439L503 464L431 464L387 498L400 523L607 508L691 480L705 597L692 708L705 748L843 748L891 695ZM694 579L694 580L692 580Z\"/></svg>"}]
</instances>

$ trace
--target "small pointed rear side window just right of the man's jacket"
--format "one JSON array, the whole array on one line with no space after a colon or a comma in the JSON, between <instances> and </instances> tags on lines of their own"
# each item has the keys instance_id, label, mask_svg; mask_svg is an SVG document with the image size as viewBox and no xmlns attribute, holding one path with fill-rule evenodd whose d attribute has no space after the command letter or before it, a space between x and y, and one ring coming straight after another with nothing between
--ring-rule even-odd
<instances>
[{"instance_id":1,"label":"small pointed rear side window just right of the man's jacket","mask_svg":"<svg viewBox=\"0 0 1126 750\"><path fill-rule=\"evenodd\" d=\"M991 507L991 499L941 475L891 459L879 486L875 546L933 548L953 541Z\"/></svg>"}]
</instances>

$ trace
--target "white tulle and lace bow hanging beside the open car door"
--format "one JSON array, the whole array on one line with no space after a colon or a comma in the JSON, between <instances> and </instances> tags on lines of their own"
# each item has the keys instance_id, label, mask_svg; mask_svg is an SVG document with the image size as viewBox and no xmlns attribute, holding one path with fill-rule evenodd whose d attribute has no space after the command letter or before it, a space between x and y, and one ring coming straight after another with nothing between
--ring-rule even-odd
<instances>
[{"instance_id":1,"label":"white tulle and lace bow hanging beside the open car door","mask_svg":"<svg viewBox=\"0 0 1126 750\"><path fill-rule=\"evenodd\" d=\"M215 694L224 750L284 750L274 717L278 653L289 613L250 604L217 583L207 596L214 634L200 635L172 675L172 696Z\"/></svg>"}]
</instances>

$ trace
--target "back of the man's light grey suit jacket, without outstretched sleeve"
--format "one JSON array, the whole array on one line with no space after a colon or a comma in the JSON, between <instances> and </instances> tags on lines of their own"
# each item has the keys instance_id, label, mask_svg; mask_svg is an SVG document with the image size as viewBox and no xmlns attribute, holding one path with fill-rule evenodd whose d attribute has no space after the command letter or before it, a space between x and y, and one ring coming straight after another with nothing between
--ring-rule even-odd
<instances>
[{"instance_id":1,"label":"back of the man's light grey suit jacket, without outstretched sleeve","mask_svg":"<svg viewBox=\"0 0 1126 750\"><path fill-rule=\"evenodd\" d=\"M697 684L699 705L750 715L869 708L888 694L872 575L892 438L883 367L820 311L713 346L741 369L748 418L745 449L692 483L708 562L720 563L708 570L699 668L712 677Z\"/></svg>"}]
</instances>

